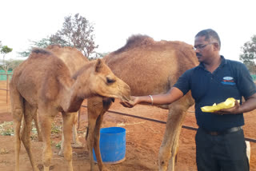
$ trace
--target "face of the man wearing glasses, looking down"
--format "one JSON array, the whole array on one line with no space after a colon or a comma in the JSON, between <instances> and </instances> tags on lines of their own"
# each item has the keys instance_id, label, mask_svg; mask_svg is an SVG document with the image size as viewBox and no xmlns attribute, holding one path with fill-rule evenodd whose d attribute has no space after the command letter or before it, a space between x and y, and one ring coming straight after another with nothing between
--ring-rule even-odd
<instances>
[{"instance_id":1,"label":"face of the man wearing glasses, looking down","mask_svg":"<svg viewBox=\"0 0 256 171\"><path fill-rule=\"evenodd\" d=\"M206 41L205 37L196 37L194 39L194 52L198 57L198 62L207 62L212 56L214 42Z\"/></svg>"}]
</instances>

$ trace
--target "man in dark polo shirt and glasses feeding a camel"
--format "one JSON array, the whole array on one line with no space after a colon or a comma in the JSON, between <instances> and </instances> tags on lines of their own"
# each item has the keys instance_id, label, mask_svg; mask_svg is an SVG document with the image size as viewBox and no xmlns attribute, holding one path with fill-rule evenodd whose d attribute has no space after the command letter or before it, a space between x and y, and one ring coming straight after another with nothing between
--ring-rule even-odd
<instances>
[{"instance_id":1,"label":"man in dark polo shirt and glasses feeding a camel","mask_svg":"<svg viewBox=\"0 0 256 171\"><path fill-rule=\"evenodd\" d=\"M165 94L133 97L121 101L126 107L147 102L154 105L177 101L189 90L195 101L198 124L196 161L198 171L248 171L246 143L242 130L243 113L256 109L256 87L249 71L241 62L225 59L219 54L221 42L211 29L202 30L194 40L194 50L200 64L187 70ZM234 107L204 113L201 107L234 97ZM242 103L242 97L246 99Z\"/></svg>"}]
</instances>

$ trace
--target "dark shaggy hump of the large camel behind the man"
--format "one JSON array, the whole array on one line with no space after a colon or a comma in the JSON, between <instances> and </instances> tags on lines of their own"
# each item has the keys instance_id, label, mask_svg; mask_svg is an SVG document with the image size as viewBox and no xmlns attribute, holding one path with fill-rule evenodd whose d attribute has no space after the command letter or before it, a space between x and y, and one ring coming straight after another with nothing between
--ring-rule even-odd
<instances>
[{"instance_id":1,"label":"dark shaggy hump of the large camel behind the man","mask_svg":"<svg viewBox=\"0 0 256 171\"><path fill-rule=\"evenodd\" d=\"M133 49L135 47L153 45L154 43L155 43L154 39L150 38L147 35L142 35L142 34L132 35L130 38L127 39L126 45L120 48L119 50L114 51L114 54L119 54L126 50Z\"/></svg>"}]
</instances>

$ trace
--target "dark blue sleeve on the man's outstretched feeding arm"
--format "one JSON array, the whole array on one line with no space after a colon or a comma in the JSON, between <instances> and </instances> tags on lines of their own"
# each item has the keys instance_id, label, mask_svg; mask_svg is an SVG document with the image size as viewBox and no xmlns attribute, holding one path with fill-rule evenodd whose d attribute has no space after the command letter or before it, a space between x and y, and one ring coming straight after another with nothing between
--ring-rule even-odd
<instances>
[{"instance_id":1,"label":"dark blue sleeve on the man's outstretched feeding arm","mask_svg":"<svg viewBox=\"0 0 256 171\"><path fill-rule=\"evenodd\" d=\"M186 70L184 74L180 78L178 78L178 81L174 84L174 87L180 89L185 95L190 90L190 78L192 74L192 69Z\"/></svg>"}]
</instances>

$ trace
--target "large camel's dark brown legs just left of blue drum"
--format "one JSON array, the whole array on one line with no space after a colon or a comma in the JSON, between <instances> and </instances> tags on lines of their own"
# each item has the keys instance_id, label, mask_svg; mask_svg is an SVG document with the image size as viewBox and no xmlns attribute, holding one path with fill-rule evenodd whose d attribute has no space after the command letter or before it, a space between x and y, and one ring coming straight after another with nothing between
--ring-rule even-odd
<instances>
[{"instance_id":1,"label":"large camel's dark brown legs just left of blue drum","mask_svg":"<svg viewBox=\"0 0 256 171\"><path fill-rule=\"evenodd\" d=\"M90 154L90 170L94 170L93 148L98 162L99 170L107 170L102 163L99 151L99 129L103 114L110 108L111 99L103 100L101 97L88 99L88 139L87 148Z\"/></svg>"}]
</instances>

